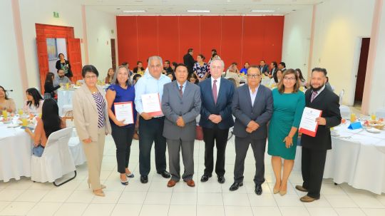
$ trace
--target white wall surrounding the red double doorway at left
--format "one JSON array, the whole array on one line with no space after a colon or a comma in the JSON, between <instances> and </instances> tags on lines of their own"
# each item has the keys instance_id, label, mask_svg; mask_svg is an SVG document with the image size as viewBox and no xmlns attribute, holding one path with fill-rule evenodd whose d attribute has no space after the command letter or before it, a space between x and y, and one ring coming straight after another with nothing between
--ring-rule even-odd
<instances>
[{"instance_id":1,"label":"white wall surrounding the red double doorway at left","mask_svg":"<svg viewBox=\"0 0 385 216\"><path fill-rule=\"evenodd\" d=\"M19 6L29 87L40 89L35 24L71 26L74 29L75 38L83 38L81 5L76 1L58 4L58 1L39 0L19 1ZM53 11L59 13L59 18L53 18ZM81 43L81 56L84 56L83 43ZM82 61L84 62L84 58Z\"/></svg>"}]
</instances>

